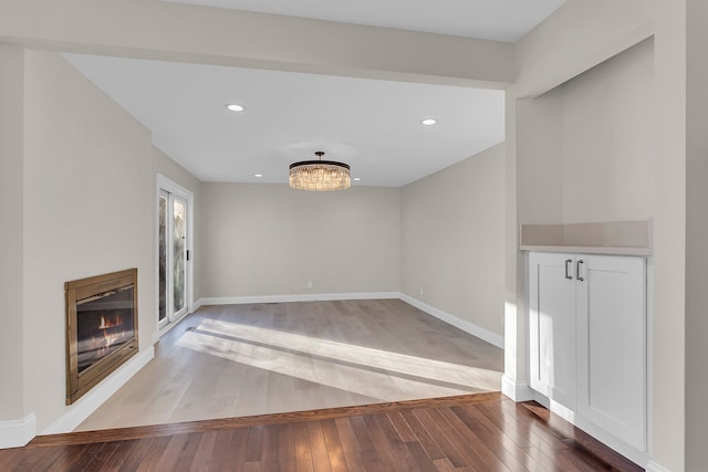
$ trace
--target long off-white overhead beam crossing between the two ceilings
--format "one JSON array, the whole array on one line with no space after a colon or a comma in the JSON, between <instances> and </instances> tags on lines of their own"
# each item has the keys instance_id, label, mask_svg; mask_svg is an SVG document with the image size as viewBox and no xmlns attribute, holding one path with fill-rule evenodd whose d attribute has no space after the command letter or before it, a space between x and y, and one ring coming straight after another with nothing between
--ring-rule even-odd
<instances>
[{"instance_id":1,"label":"long off-white overhead beam crossing between the two ceilings","mask_svg":"<svg viewBox=\"0 0 708 472\"><path fill-rule=\"evenodd\" d=\"M513 80L510 43L160 0L3 0L0 42L439 84Z\"/></svg>"}]
</instances>

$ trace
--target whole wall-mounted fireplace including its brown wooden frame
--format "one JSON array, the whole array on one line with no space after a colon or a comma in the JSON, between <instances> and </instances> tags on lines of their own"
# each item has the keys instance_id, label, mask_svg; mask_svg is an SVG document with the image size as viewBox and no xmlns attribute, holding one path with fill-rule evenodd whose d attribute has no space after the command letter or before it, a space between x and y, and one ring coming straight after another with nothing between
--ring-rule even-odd
<instances>
[{"instance_id":1,"label":"whole wall-mounted fireplace including its brown wooden frame","mask_svg":"<svg viewBox=\"0 0 708 472\"><path fill-rule=\"evenodd\" d=\"M66 282L66 405L137 353L137 269Z\"/></svg>"}]
</instances>

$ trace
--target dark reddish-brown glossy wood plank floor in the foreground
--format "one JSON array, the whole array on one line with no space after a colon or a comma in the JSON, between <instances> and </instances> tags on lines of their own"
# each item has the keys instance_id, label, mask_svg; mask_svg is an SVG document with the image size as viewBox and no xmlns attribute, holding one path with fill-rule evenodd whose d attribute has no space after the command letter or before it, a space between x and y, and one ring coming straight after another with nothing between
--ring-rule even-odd
<instances>
[{"instance_id":1,"label":"dark reddish-brown glossy wood plank floor in the foreground","mask_svg":"<svg viewBox=\"0 0 708 472\"><path fill-rule=\"evenodd\" d=\"M39 437L2 471L641 471L501 394Z\"/></svg>"}]
</instances>

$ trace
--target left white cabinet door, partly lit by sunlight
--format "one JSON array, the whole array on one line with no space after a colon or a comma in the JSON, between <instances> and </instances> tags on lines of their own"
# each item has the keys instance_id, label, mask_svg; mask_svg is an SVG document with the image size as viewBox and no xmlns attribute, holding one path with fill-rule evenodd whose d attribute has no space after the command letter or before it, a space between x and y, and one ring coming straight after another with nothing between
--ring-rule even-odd
<instances>
[{"instance_id":1,"label":"left white cabinet door, partly lit by sunlight","mask_svg":"<svg viewBox=\"0 0 708 472\"><path fill-rule=\"evenodd\" d=\"M529 264L531 388L573 409L576 381L574 256L534 252L530 254Z\"/></svg>"}]
</instances>

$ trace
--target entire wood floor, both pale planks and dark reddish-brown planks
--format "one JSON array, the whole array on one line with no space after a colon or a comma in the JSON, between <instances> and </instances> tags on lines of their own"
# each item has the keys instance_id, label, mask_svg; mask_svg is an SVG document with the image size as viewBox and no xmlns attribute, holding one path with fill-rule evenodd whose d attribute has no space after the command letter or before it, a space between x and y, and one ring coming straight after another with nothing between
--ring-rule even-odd
<instances>
[{"instance_id":1,"label":"entire wood floor, both pale planks and dark reddish-brown planks","mask_svg":"<svg viewBox=\"0 0 708 472\"><path fill-rule=\"evenodd\" d=\"M490 392L502 364L395 300L204 307L76 432L0 450L0 471L642 470Z\"/></svg>"}]
</instances>

